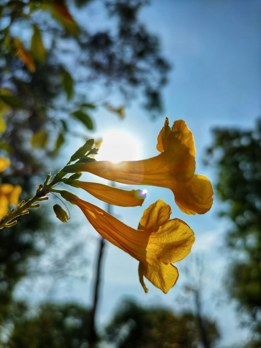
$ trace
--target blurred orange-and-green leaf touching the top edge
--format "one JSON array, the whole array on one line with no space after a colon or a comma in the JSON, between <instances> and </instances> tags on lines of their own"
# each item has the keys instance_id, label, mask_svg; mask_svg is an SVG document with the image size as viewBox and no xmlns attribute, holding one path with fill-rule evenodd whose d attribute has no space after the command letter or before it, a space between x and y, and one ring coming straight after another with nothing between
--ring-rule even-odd
<instances>
[{"instance_id":1,"label":"blurred orange-and-green leaf touching the top edge","mask_svg":"<svg viewBox=\"0 0 261 348\"><path fill-rule=\"evenodd\" d=\"M50 7L52 16L63 25L64 29L73 36L78 35L78 25L69 13L68 8L58 1L52 1Z\"/></svg>"}]
</instances>

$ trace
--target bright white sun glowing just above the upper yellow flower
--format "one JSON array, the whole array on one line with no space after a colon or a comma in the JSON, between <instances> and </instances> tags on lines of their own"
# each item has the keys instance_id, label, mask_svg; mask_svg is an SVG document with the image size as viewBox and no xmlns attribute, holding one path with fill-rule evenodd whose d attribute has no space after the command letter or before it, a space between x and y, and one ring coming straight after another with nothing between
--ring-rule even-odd
<instances>
[{"instance_id":1,"label":"bright white sun glowing just above the upper yellow flower","mask_svg":"<svg viewBox=\"0 0 261 348\"><path fill-rule=\"evenodd\" d=\"M137 142L127 133L112 131L103 135L97 161L135 161L140 159L140 150Z\"/></svg>"}]
</instances>

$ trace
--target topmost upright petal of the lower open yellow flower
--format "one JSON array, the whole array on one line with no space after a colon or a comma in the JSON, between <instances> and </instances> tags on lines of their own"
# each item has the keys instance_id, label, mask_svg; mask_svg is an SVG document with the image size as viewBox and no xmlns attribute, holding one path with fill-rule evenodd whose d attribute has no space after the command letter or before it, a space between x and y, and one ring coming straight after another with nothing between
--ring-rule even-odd
<instances>
[{"instance_id":1,"label":"topmost upright petal of the lower open yellow flower","mask_svg":"<svg viewBox=\"0 0 261 348\"><path fill-rule=\"evenodd\" d=\"M140 224L143 230L156 231L164 222L169 219L172 210L163 200L158 199L144 210ZM138 228L140 229L140 228Z\"/></svg>"}]
</instances>

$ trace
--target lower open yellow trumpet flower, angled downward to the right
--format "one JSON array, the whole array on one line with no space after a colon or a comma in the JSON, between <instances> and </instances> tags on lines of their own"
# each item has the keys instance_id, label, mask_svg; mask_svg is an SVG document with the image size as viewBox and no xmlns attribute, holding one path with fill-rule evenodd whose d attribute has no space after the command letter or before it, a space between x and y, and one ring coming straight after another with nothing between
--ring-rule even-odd
<instances>
[{"instance_id":1,"label":"lower open yellow trumpet flower, angled downward to the right","mask_svg":"<svg viewBox=\"0 0 261 348\"><path fill-rule=\"evenodd\" d=\"M172 211L163 200L157 200L145 209L139 229L135 230L69 191L60 193L64 199L81 208L102 237L140 261L139 277L145 292L148 289L143 276L164 293L175 285L179 273L172 262L177 262L190 253L195 238L184 221L169 220Z\"/></svg>"}]
</instances>

